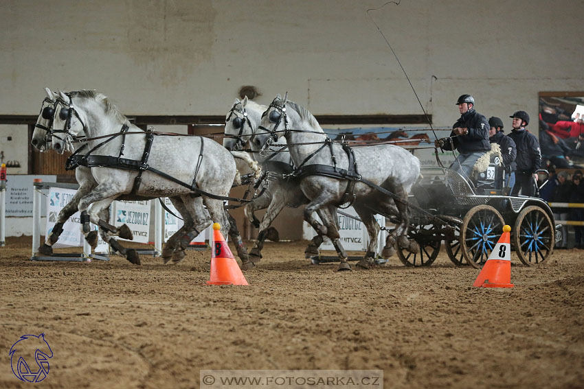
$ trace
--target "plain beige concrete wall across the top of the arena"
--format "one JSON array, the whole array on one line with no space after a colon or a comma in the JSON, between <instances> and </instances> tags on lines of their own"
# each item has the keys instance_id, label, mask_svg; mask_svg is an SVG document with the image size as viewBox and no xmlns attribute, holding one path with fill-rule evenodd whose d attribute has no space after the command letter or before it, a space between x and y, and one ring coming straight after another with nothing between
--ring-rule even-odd
<instances>
[{"instance_id":1,"label":"plain beige concrete wall across the top of the arena","mask_svg":"<svg viewBox=\"0 0 584 389\"><path fill-rule=\"evenodd\" d=\"M421 113L366 10L383 1L3 1L0 114L43 86L98 89L128 114L221 115L242 85L315 114ZM584 89L583 1L416 0L370 12L434 124L537 113L537 92Z\"/></svg>"}]
</instances>

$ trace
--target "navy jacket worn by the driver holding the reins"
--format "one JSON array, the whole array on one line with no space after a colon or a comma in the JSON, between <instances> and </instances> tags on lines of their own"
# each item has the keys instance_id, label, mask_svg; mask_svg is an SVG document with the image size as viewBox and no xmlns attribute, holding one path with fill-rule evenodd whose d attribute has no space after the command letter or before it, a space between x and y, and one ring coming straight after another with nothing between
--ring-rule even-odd
<instances>
[{"instance_id":1,"label":"navy jacket worn by the driver holding the reins","mask_svg":"<svg viewBox=\"0 0 584 389\"><path fill-rule=\"evenodd\" d=\"M469 109L460 116L460 119L454 123L452 128L468 128L469 133L455 137L454 131L450 133L453 137L454 148L460 154L471 152L488 152L491 151L491 143L488 142L488 120L486 117L475 111L475 108ZM444 150L452 150L450 142L446 142Z\"/></svg>"}]
</instances>

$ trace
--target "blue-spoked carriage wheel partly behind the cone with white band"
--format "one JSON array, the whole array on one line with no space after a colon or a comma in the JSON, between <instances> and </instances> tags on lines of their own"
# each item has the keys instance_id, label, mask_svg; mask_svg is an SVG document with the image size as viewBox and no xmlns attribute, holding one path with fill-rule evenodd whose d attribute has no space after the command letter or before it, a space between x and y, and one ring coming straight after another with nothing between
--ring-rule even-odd
<instances>
[{"instance_id":1,"label":"blue-spoked carriage wheel partly behind the cone with white band","mask_svg":"<svg viewBox=\"0 0 584 389\"><path fill-rule=\"evenodd\" d=\"M462 255L470 266L480 269L503 233L503 217L490 205L478 205L464 215L460 229Z\"/></svg>"}]
</instances>

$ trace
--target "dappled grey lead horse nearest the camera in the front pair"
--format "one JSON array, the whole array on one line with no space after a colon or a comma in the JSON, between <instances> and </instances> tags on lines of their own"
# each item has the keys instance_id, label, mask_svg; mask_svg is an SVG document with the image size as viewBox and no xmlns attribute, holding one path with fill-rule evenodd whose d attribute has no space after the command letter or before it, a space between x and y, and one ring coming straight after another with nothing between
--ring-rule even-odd
<instances>
[{"instance_id":1,"label":"dappled grey lead horse nearest the camera in the front pair","mask_svg":"<svg viewBox=\"0 0 584 389\"><path fill-rule=\"evenodd\" d=\"M185 222L164 245L165 263L181 261L190 241L212 222L221 224L223 234L229 231L222 199L232 187L236 166L218 143L203 137L148 134L96 91L61 92L53 127L63 128L66 135L53 139L56 151L65 149L67 139L87 145L78 146L69 158L71 165L87 165L98 184L78 204L86 237L91 221L105 231L102 237L114 252L139 264L135 250L113 239L115 235L131 239L129 228L108 224L100 213L115 199L159 197L169 197Z\"/></svg>"}]
</instances>

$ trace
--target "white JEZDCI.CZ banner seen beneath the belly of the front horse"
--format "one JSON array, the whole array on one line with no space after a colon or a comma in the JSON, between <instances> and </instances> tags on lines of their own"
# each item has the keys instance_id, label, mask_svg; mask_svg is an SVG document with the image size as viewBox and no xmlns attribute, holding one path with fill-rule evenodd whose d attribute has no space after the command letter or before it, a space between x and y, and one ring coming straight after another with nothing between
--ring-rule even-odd
<instances>
[{"instance_id":1,"label":"white JEZDCI.CZ banner seen beneath the belly of the front horse","mask_svg":"<svg viewBox=\"0 0 584 389\"><path fill-rule=\"evenodd\" d=\"M113 225L116 227L126 224L134 235L133 241L148 243L150 234L150 200L144 201L116 201ZM126 240L127 239L120 239Z\"/></svg>"}]
</instances>

